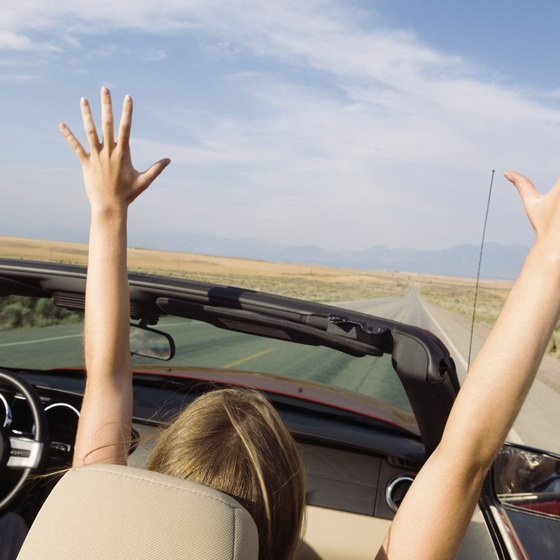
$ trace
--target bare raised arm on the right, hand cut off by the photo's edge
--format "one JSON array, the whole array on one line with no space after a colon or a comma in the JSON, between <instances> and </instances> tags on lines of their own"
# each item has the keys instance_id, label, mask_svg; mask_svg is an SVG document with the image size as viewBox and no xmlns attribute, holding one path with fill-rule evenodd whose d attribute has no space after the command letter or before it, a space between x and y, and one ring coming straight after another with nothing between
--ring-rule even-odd
<instances>
[{"instance_id":1,"label":"bare raised arm on the right, hand cut off by the photo's edge","mask_svg":"<svg viewBox=\"0 0 560 560\"><path fill-rule=\"evenodd\" d=\"M560 182L541 196L519 173L536 233L523 269L453 405L442 440L393 521L377 558L455 558L484 477L533 382L560 312Z\"/></svg>"}]
</instances>

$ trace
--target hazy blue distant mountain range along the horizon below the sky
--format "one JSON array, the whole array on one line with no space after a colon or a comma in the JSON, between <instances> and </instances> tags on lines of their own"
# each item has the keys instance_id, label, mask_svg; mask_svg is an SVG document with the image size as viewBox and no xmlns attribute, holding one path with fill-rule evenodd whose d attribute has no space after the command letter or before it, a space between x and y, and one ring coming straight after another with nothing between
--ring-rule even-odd
<instances>
[{"instance_id":1,"label":"hazy blue distant mountain range along the horizon below the sky","mask_svg":"<svg viewBox=\"0 0 560 560\"><path fill-rule=\"evenodd\" d=\"M0 234L2 232L0 231ZM45 236L23 230L11 235L86 242L84 231L66 228L49 229ZM294 262L323 266L417 272L443 276L474 278L478 269L480 247L457 245L450 249L393 249L374 245L360 251L330 251L315 245L281 245L259 239L231 239L201 233L131 233L131 247L239 257L276 262ZM528 248L521 245L487 243L484 247L481 276L488 279L513 279L519 273Z\"/></svg>"}]
</instances>

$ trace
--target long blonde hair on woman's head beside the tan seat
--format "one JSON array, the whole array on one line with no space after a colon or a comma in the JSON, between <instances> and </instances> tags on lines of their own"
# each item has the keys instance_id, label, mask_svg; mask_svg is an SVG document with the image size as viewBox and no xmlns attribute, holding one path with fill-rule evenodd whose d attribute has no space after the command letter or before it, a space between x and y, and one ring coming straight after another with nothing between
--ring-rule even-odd
<instances>
[{"instance_id":1,"label":"long blonde hair on woman's head beside the tan seat","mask_svg":"<svg viewBox=\"0 0 560 560\"><path fill-rule=\"evenodd\" d=\"M229 494L252 515L259 558L295 554L303 522L303 466L292 436L264 395L220 389L195 399L148 459L153 471Z\"/></svg>"}]
</instances>

